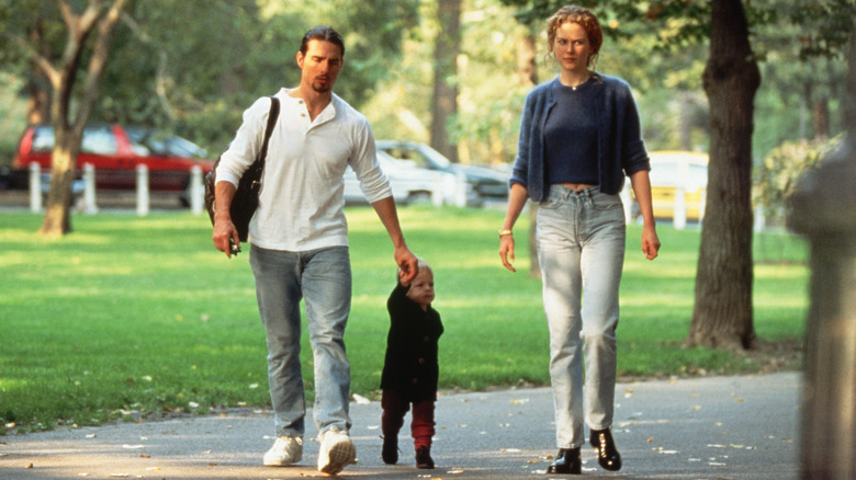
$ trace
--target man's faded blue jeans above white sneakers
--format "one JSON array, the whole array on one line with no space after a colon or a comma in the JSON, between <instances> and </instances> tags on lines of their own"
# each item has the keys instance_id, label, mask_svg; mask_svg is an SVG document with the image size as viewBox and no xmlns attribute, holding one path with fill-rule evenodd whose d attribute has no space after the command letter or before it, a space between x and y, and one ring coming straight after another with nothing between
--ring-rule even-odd
<instances>
[{"instance_id":1,"label":"man's faded blue jeans above white sneakers","mask_svg":"<svg viewBox=\"0 0 856 480\"><path fill-rule=\"evenodd\" d=\"M250 249L256 297L268 343L268 380L277 436L303 437L306 403L301 370L301 299L315 363L315 424L347 432L350 364L345 325L351 308L347 247L286 252Z\"/></svg>"}]
</instances>

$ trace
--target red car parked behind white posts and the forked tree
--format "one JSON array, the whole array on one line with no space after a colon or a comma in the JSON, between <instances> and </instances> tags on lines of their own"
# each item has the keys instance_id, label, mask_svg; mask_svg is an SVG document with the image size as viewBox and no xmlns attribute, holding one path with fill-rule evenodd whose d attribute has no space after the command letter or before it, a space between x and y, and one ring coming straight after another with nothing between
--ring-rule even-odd
<instances>
[{"instance_id":1,"label":"red car parked behind white posts and the forked tree","mask_svg":"<svg viewBox=\"0 0 856 480\"><path fill-rule=\"evenodd\" d=\"M38 163L43 173L49 173L53 149L52 126L29 127L14 158L19 176L32 162ZM150 190L184 191L190 185L193 165L199 165L203 174L214 165L205 156L205 150L190 140L151 128L91 125L83 130L77 178L81 176L82 165L91 163L97 188L135 190L137 165L146 164Z\"/></svg>"}]
</instances>

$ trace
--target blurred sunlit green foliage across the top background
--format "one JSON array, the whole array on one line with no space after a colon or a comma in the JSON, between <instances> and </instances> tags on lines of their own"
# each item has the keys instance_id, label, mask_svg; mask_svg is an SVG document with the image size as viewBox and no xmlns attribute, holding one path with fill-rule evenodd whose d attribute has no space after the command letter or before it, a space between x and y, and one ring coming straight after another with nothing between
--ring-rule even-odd
<instances>
[{"instance_id":1,"label":"blurred sunlit green foliage across the top background","mask_svg":"<svg viewBox=\"0 0 856 480\"><path fill-rule=\"evenodd\" d=\"M744 2L755 24L753 49L762 60L753 140L758 169L785 161L782 156L793 151L788 145L824 148L843 129L840 99L846 65L836 42L846 43L852 18L831 14L833 3L853 8L854 1ZM296 84L294 55L306 30L331 24L347 46L337 93L369 117L376 138L431 142L435 48L447 31L439 20L441 4L460 10L455 70L446 76L457 90L457 108L446 125L458 158L510 163L526 93L533 82L556 73L544 55L543 25L561 2L134 1L114 32L91 122L169 129L216 156L256 98ZM708 54L706 5L620 0L592 7L607 32L597 69L633 87L650 150L707 149L708 108L700 80ZM66 33L57 3L0 0L0 35L10 34L59 55ZM525 72L521 66L529 58L532 70ZM0 43L0 164L11 162L29 123L49 119L46 90L46 80L21 49ZM766 182L769 176L759 172L755 179Z\"/></svg>"}]
</instances>

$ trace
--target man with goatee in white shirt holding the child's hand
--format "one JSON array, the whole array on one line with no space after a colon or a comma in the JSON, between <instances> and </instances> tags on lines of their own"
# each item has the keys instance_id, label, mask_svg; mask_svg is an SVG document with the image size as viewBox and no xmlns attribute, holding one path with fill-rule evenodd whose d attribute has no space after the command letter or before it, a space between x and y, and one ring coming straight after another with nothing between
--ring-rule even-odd
<instances>
[{"instance_id":1,"label":"man with goatee in white shirt holding the child's hand","mask_svg":"<svg viewBox=\"0 0 856 480\"><path fill-rule=\"evenodd\" d=\"M277 439L266 466L289 466L303 456L305 400L300 365L301 312L305 299L315 361L314 418L318 470L336 475L356 458L348 431L350 366L343 333L351 302L348 228L342 175L350 165L386 228L396 264L416 276L395 202L381 171L365 117L333 93L345 43L329 26L306 33L296 55L301 82L281 89L281 114L270 137L259 207L249 225L250 266L268 344L268 378ZM270 100L244 113L235 140L223 153L215 186L214 245L230 256L238 232L229 205L238 179L263 139Z\"/></svg>"}]
</instances>

